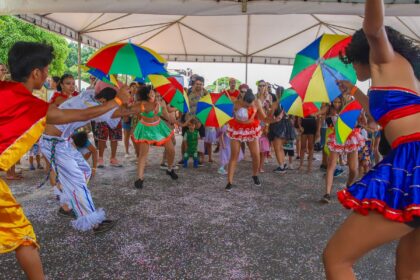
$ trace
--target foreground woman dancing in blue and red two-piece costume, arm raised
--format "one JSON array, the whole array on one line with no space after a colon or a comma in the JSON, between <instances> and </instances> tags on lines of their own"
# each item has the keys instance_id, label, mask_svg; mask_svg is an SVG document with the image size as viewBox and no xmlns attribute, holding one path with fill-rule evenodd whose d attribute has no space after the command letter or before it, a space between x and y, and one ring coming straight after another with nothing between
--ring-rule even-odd
<instances>
[{"instance_id":1,"label":"foreground woman dancing in blue and red two-piece costume, arm raised","mask_svg":"<svg viewBox=\"0 0 420 280\"><path fill-rule=\"evenodd\" d=\"M338 193L354 211L324 251L327 279L355 279L353 264L394 240L399 241L396 278L420 279L420 48L384 26L382 0L367 0L363 29L353 35L345 56L359 80L372 80L372 88L366 96L348 82L338 84L383 127L392 150Z\"/></svg>"}]
</instances>

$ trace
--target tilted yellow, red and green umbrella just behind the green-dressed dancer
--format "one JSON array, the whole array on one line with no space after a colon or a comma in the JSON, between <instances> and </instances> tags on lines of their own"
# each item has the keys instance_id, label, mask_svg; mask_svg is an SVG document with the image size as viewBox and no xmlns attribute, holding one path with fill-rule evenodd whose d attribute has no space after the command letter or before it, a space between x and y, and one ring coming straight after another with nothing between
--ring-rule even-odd
<instances>
[{"instance_id":1,"label":"tilted yellow, red and green umbrella just behind the green-dressed dancer","mask_svg":"<svg viewBox=\"0 0 420 280\"><path fill-rule=\"evenodd\" d=\"M155 91L162 96L166 103L181 113L187 113L190 110L187 93L175 77L149 75L147 80L151 82Z\"/></svg>"}]
</instances>

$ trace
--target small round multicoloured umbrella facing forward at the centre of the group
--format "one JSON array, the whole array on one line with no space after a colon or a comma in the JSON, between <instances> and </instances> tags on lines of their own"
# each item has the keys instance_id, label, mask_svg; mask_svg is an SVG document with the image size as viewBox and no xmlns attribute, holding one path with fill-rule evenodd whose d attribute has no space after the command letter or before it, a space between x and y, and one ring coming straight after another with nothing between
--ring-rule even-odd
<instances>
[{"instance_id":1,"label":"small round multicoloured umbrella facing forward at the centre of the group","mask_svg":"<svg viewBox=\"0 0 420 280\"><path fill-rule=\"evenodd\" d=\"M209 93L197 103L197 118L204 126L222 127L233 117L233 103L220 93Z\"/></svg>"}]
</instances>

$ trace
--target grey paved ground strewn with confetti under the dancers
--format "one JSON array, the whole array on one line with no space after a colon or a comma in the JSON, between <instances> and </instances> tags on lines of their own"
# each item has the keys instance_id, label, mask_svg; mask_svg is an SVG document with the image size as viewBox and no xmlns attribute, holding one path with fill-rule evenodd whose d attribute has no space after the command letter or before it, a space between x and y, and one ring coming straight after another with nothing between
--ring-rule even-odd
<instances>
[{"instance_id":1,"label":"grey paved ground strewn with confetti under the dancers","mask_svg":"<svg viewBox=\"0 0 420 280\"><path fill-rule=\"evenodd\" d=\"M98 171L90 186L96 206L119 220L102 236L76 232L56 215L51 188L36 189L43 173L26 171L24 181L10 184L34 225L48 279L325 278L322 250L349 212L336 200L318 202L320 171L266 172L255 187L247 156L227 193L215 163L170 180L158 167L161 151L151 150L143 190L133 188L133 162ZM274 168L270 160L266 170ZM358 279L394 279L394 251L390 244L362 259ZM0 279L24 279L14 254L0 256L0 264Z\"/></svg>"}]
</instances>

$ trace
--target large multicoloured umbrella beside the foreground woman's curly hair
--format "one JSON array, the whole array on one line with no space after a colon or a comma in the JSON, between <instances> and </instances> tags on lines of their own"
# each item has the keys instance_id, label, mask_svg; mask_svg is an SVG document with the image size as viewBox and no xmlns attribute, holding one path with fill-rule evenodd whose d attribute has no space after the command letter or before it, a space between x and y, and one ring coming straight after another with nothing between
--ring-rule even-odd
<instances>
[{"instance_id":1,"label":"large multicoloured umbrella beside the foreground woman's curly hair","mask_svg":"<svg viewBox=\"0 0 420 280\"><path fill-rule=\"evenodd\" d=\"M331 102L341 95L337 80L356 83L352 65L340 60L351 37L324 34L295 58L290 84L304 102Z\"/></svg>"}]
</instances>

